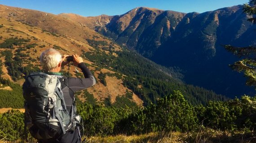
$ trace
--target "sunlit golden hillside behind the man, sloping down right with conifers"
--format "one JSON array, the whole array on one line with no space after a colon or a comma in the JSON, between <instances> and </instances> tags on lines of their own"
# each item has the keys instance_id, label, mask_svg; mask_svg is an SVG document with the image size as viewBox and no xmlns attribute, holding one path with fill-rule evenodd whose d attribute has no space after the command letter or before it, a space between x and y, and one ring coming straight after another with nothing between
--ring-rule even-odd
<instances>
[{"instance_id":1,"label":"sunlit golden hillside behind the man, sloping down right with conifers","mask_svg":"<svg viewBox=\"0 0 256 143\"><path fill-rule=\"evenodd\" d=\"M60 15L0 5L0 34L0 108L22 108L22 89L16 84L22 85L29 72L40 70L38 57L47 48L81 55L93 72L97 84L76 93L81 102L141 106L156 103L173 90L180 90L192 104L228 99L184 84L179 68L160 66ZM83 76L71 65L62 72L65 76Z\"/></svg>"}]
</instances>

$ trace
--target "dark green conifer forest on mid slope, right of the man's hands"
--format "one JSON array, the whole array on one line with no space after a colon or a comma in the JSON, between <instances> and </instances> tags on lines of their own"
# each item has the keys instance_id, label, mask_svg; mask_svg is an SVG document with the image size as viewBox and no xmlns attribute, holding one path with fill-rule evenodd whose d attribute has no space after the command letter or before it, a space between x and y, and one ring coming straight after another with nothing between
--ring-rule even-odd
<instances>
[{"instance_id":1,"label":"dark green conifer forest on mid slope, right of the man's hands","mask_svg":"<svg viewBox=\"0 0 256 143\"><path fill-rule=\"evenodd\" d=\"M95 46L95 45L94 45ZM114 70L120 74L127 75L123 79L124 85L136 93L144 105L150 102L156 103L158 98L169 95L173 90L180 90L185 99L193 105L206 105L208 101L227 101L228 98L213 91L193 85L184 84L181 73L175 68L159 66L133 51L124 49L115 51L118 56L95 48L91 52L85 52L84 58L89 59L97 66ZM106 86L105 75L100 74L100 82Z\"/></svg>"}]
</instances>

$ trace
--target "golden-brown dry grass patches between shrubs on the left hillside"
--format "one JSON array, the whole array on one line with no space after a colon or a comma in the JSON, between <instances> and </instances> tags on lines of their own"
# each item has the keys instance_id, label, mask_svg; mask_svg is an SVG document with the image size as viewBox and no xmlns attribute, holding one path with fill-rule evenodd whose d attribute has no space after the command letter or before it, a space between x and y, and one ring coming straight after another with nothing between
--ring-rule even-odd
<instances>
[{"instance_id":1,"label":"golden-brown dry grass patches between shrubs on the left hillside","mask_svg":"<svg viewBox=\"0 0 256 143\"><path fill-rule=\"evenodd\" d=\"M37 52L33 52L34 48L30 49L31 53L28 53L28 54L31 58L36 59L37 57L40 56L40 53L43 50L45 50L49 47L53 47L53 45L57 45L57 46L61 47L62 49L67 50L67 51L60 50L60 52L62 54L71 55L73 53L76 53L76 54L80 55L82 53L81 50L84 50L85 52L94 50L94 48L91 47L86 40L84 40L86 38L93 39L90 37L99 37L99 39L94 39L94 40L105 41L106 43L110 43L110 41L108 39L103 39L101 37L101 35L97 34L95 31L93 31L91 29L84 28L84 30L85 30L84 32L86 32L87 34L82 32L81 30L78 30L81 26L79 25L78 27L75 28L74 22L72 22L70 20L66 20L66 23L68 23L68 25L72 25L72 26L69 28L64 28L64 29L72 29L73 32L69 33L66 30L62 31L63 29L59 29L59 26L56 26L56 25L60 24L61 26L64 26L64 27L68 26L68 25L63 24L62 22L57 22L57 21L65 21L65 19L63 19L63 17L58 17L56 15L49 15L49 14L47 14L47 16L46 16L46 13L32 11L32 10L26 10L26 9L20 9L21 11L19 11L19 13L16 13L17 9L18 8L0 5L0 11L2 11L2 13L1 13L2 17L0 17L0 23L1 23L1 25L4 26L4 27L0 28L0 33L1 33L0 36L3 37L0 39L0 43L4 42L5 39L12 38L12 37L30 39L30 42L28 42L27 44L33 44L33 43L38 44L38 46L35 46L35 49L37 50ZM8 14L11 12L16 13L17 17L9 17ZM33 12L33 13L31 13L31 12ZM25 14L26 17L23 17L22 15L20 15L22 13L27 13L27 14ZM39 23L39 25L37 25L38 27L35 27L35 26L31 27L31 26L22 24L22 22L18 22L23 17L25 19L28 18L28 19L26 19L26 21L30 21L31 24L33 24L34 19L30 19L30 16L35 16L35 15L43 16L43 17L38 17L38 18L42 18L41 19L42 21L44 21L44 20L51 21L48 24L51 25L52 27L55 27L57 31L52 31L52 30L48 29L49 27L48 28L44 27L44 25L42 23ZM54 18L49 19L49 17L54 17ZM9 18L9 19L5 19L5 18ZM41 20L39 20L39 21L41 21ZM77 22L75 22L75 23L77 24ZM14 31L8 30L8 29L14 29ZM58 33L59 35L54 36L53 34L47 32L43 29ZM75 34L75 35L72 36L69 34ZM13 35L13 36L11 36L11 35ZM66 36L63 36L63 35L66 35ZM76 39L76 37L80 37L79 35L81 35L83 38ZM40 46L43 46L43 45L45 47L40 48ZM111 45L111 46L113 46L113 45ZM115 50L121 50L121 47L119 47L117 45L114 45L114 47L115 47ZM15 49L13 49L13 52L15 50L17 50L19 48L19 46L14 46L14 48ZM6 49L0 48L0 52L4 51L4 50L6 50ZM5 62L4 56L0 57L0 60L2 60L2 63L4 63ZM93 62L88 61L86 59L84 59L84 62L88 63L88 64L93 64ZM36 66L40 65L40 63L38 61L31 62L31 63ZM93 67L94 66L92 66L92 68ZM2 77L4 79L9 79L10 81L14 82L12 80L12 77L8 74L8 70L7 70L7 67L5 66L5 64L2 65L2 70L4 72ZM64 71L67 71L67 70L65 69ZM69 71L73 76L75 76L75 73L76 73L75 66L71 66ZM99 74L99 72L100 71L95 71L96 77L97 77L97 73ZM110 71L107 69L102 69L102 72L103 73L106 73L106 72L115 73L114 71ZM88 88L88 92L92 93L94 98L96 98L98 101L104 101L106 98L108 98L110 96L110 99L113 103L113 102L115 102L117 95L123 96L123 95L125 95L126 90L131 91L127 87L124 87L122 80L117 80L114 77L107 77L106 81L107 81L107 86L104 86L103 84L98 82L97 85L94 85L92 88ZM22 85L24 83L24 79L18 80L15 83ZM0 86L0 90L2 90L2 89L11 90L11 88ZM133 99L137 103L137 105L142 105L142 101L137 97L137 95L135 93L133 93L133 97L134 97ZM80 97L80 99L81 99L81 101L85 101L84 98Z\"/></svg>"}]
</instances>

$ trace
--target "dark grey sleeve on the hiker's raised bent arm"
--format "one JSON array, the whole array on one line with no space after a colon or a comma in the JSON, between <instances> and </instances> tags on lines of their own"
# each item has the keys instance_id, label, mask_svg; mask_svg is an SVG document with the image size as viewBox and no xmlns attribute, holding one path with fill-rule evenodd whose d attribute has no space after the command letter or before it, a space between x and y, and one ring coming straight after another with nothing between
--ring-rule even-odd
<instances>
[{"instance_id":1,"label":"dark grey sleeve on the hiker's raised bent arm","mask_svg":"<svg viewBox=\"0 0 256 143\"><path fill-rule=\"evenodd\" d=\"M79 63L78 67L84 73L85 78L74 78L68 77L66 79L67 86L73 91L76 92L78 90L86 89L94 84L96 84L96 80L92 74L92 72L86 67L85 63Z\"/></svg>"}]
</instances>

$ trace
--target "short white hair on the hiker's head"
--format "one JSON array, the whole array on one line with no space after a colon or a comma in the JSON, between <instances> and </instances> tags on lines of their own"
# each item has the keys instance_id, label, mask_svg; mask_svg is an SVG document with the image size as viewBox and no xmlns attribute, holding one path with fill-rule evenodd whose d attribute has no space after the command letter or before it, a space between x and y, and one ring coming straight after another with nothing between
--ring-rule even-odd
<instances>
[{"instance_id":1,"label":"short white hair on the hiker's head","mask_svg":"<svg viewBox=\"0 0 256 143\"><path fill-rule=\"evenodd\" d=\"M61 61L61 53L53 48L44 50L40 55L40 63L44 71L53 70Z\"/></svg>"}]
</instances>

